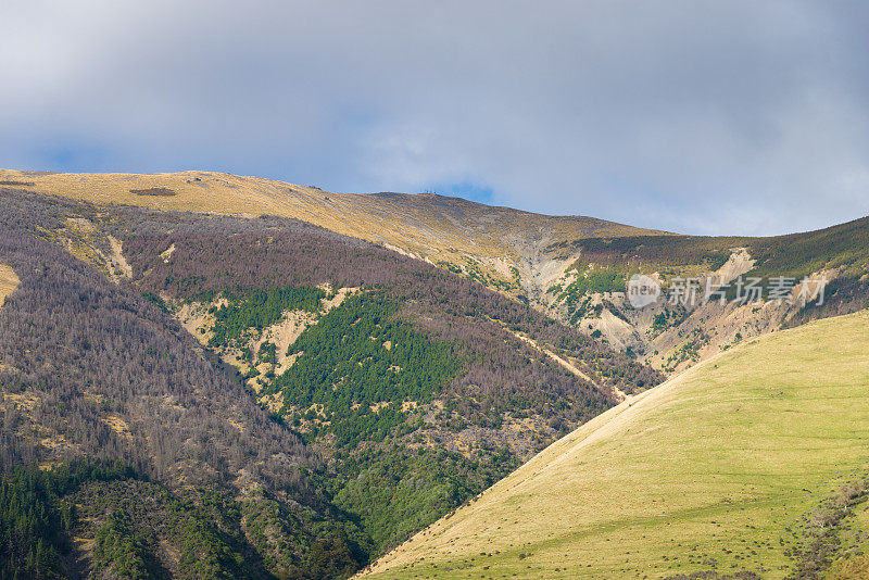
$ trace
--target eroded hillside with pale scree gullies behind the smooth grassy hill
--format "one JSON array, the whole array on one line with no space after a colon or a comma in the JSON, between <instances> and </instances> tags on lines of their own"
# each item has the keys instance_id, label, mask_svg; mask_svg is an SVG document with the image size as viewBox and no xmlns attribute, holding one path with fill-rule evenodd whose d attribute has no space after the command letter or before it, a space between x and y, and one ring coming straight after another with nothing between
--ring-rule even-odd
<instances>
[{"instance_id":1,"label":"eroded hillside with pale scree gullies behind the smooth grassy hill","mask_svg":"<svg viewBox=\"0 0 869 580\"><path fill-rule=\"evenodd\" d=\"M807 320L869 306L869 218L772 238L629 236L578 240L562 256L579 255L546 290L541 310L671 374L742 340ZM662 297L634 308L625 288L633 274L662 286ZM804 305L801 280L826 278L820 298ZM696 300L675 289L693 280ZM735 301L740 281L754 280L760 300ZM785 300L769 288L790 280ZM707 281L727 285L728 303L706 300ZM805 286L817 290L814 283ZM681 298L681 299L680 299Z\"/></svg>"}]
</instances>

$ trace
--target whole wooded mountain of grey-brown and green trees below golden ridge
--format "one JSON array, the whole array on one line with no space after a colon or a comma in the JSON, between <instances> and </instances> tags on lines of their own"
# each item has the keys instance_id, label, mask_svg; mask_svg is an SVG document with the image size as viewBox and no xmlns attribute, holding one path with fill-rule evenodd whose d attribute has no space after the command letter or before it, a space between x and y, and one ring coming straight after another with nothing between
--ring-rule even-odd
<instances>
[{"instance_id":1,"label":"whole wooded mountain of grey-brown and green trees below golden ridge","mask_svg":"<svg viewBox=\"0 0 869 580\"><path fill-rule=\"evenodd\" d=\"M28 187L0 189L10 577L345 577L662 380L308 223Z\"/></svg>"}]
</instances>

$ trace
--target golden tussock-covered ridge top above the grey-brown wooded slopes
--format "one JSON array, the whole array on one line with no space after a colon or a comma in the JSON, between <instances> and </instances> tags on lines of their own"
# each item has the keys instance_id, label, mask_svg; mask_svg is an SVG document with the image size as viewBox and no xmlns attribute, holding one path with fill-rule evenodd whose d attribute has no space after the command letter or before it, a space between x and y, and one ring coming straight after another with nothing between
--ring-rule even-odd
<instances>
[{"instance_id":1,"label":"golden tussock-covered ridge top above the grey-brown wooded slopes","mask_svg":"<svg viewBox=\"0 0 869 580\"><path fill-rule=\"evenodd\" d=\"M295 217L443 264L512 295L539 293L549 248L579 238L664 234L581 216L547 216L436 194L331 193L212 172L55 174L0 169L0 186L95 203Z\"/></svg>"}]
</instances>

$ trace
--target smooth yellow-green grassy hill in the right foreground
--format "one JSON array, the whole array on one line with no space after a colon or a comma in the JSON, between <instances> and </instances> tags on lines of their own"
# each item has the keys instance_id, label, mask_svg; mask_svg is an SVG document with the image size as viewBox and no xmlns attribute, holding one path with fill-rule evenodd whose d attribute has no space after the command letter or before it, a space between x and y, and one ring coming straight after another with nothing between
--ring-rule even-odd
<instances>
[{"instance_id":1,"label":"smooth yellow-green grassy hill in the right foreground","mask_svg":"<svg viewBox=\"0 0 869 580\"><path fill-rule=\"evenodd\" d=\"M579 428L378 578L866 569L869 314L754 339ZM835 560L835 563L834 563Z\"/></svg>"}]
</instances>

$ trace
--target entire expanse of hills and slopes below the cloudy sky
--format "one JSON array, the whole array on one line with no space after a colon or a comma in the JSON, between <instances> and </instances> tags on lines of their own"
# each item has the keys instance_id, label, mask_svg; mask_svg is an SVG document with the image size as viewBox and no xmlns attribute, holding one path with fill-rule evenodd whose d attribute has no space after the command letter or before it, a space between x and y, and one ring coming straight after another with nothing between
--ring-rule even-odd
<instances>
[{"instance_id":1,"label":"entire expanse of hills and slopes below the cloudy sky","mask_svg":"<svg viewBox=\"0 0 869 580\"><path fill-rule=\"evenodd\" d=\"M2 177L0 517L46 514L20 569L865 566L866 219L703 238L202 172ZM795 286L634 306L634 274Z\"/></svg>"}]
</instances>

